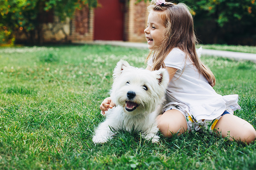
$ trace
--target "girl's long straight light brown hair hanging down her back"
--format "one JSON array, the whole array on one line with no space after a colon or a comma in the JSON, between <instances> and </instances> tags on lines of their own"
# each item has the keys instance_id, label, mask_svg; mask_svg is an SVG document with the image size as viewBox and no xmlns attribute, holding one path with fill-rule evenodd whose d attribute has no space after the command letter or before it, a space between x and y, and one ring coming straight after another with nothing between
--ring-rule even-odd
<instances>
[{"instance_id":1,"label":"girl's long straight light brown hair hanging down her back","mask_svg":"<svg viewBox=\"0 0 256 170\"><path fill-rule=\"evenodd\" d=\"M166 2L162 5L150 5L148 11L159 12L159 16L164 21L165 31L163 40L157 51L154 51L153 70L165 68L164 60L173 48L178 47L185 53L186 60L191 60L213 87L215 85L215 76L199 59L196 53L195 44L197 42L193 17L189 12L187 5L183 3L173 4ZM147 60L151 58L153 51L150 51Z\"/></svg>"}]
</instances>

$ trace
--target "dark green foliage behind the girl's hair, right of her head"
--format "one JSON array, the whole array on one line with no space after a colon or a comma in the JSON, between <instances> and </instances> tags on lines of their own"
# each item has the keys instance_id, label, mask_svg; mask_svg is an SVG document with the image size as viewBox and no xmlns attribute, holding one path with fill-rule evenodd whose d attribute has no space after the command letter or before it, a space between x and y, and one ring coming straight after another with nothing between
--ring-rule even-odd
<instances>
[{"instance_id":1,"label":"dark green foliage behind the girl's hair, right of her head","mask_svg":"<svg viewBox=\"0 0 256 170\"><path fill-rule=\"evenodd\" d=\"M255 0L180 0L193 9L199 39L206 43L256 45Z\"/></svg>"}]
</instances>

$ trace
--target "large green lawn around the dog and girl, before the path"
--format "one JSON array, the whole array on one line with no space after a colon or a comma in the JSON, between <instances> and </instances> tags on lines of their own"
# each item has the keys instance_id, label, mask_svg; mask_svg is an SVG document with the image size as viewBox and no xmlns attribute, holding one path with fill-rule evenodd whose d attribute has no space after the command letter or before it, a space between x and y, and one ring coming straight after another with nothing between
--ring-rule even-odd
<instances>
[{"instance_id":1,"label":"large green lawn around the dog and girl, before the path","mask_svg":"<svg viewBox=\"0 0 256 170\"><path fill-rule=\"evenodd\" d=\"M146 67L148 51L112 46L0 49L0 169L255 169L256 143L186 133L152 144L118 133L94 145L99 111L120 59ZM235 114L256 128L256 64L202 56L215 91L238 94Z\"/></svg>"}]
</instances>

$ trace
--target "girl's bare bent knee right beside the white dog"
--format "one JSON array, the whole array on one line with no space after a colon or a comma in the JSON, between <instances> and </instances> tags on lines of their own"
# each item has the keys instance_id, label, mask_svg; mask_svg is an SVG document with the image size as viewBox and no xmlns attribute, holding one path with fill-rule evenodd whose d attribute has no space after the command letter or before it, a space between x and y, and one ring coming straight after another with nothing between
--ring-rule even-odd
<instances>
[{"instance_id":1,"label":"girl's bare bent knee right beside the white dog","mask_svg":"<svg viewBox=\"0 0 256 170\"><path fill-rule=\"evenodd\" d=\"M187 121L184 115L178 110L168 110L157 116L158 127L165 137L172 137L173 134L183 134L188 130Z\"/></svg>"}]
</instances>

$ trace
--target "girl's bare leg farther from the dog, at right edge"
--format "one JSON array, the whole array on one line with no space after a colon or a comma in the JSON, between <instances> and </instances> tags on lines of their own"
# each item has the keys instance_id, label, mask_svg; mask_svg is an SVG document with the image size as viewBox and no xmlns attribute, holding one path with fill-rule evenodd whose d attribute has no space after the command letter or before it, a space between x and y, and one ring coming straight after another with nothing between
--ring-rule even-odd
<instances>
[{"instance_id":1,"label":"girl's bare leg farther from the dog, at right edge","mask_svg":"<svg viewBox=\"0 0 256 170\"><path fill-rule=\"evenodd\" d=\"M223 115L216 123L215 128L218 134L228 137L230 141L236 140L249 144L256 138L256 131L250 123L231 114Z\"/></svg>"}]
</instances>

